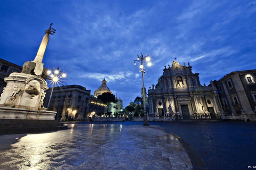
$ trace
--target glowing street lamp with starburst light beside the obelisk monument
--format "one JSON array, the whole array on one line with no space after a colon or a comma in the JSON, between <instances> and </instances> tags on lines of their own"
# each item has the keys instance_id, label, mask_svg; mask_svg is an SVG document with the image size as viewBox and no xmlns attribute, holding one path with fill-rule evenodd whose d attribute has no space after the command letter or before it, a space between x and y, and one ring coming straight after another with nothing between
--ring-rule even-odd
<instances>
[{"instance_id":1,"label":"glowing street lamp with starburst light beside the obelisk monument","mask_svg":"<svg viewBox=\"0 0 256 170\"><path fill-rule=\"evenodd\" d=\"M51 98L52 98L52 92L53 92L55 83L58 83L61 78L66 78L66 77L67 77L67 74L66 74L66 73L63 73L63 72L60 72L60 71L59 71L59 67L58 67L56 70L54 70L54 71L48 70L48 71L47 71L47 74L50 76L48 79L53 82L51 95L50 95L50 98L49 98L49 101L48 101L48 105L47 105L47 109L46 109L46 110L48 111L49 106L50 106L50 102L51 102Z\"/></svg>"}]
</instances>

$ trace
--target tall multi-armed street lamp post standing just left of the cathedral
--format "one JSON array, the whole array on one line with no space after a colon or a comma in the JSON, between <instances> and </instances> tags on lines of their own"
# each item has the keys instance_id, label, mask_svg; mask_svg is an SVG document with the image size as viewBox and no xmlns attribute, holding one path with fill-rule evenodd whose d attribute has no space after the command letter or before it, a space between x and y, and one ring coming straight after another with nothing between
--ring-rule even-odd
<instances>
[{"instance_id":1,"label":"tall multi-armed street lamp post standing just left of the cathedral","mask_svg":"<svg viewBox=\"0 0 256 170\"><path fill-rule=\"evenodd\" d=\"M145 88L144 88L144 73L145 73L145 69L144 69L144 66L143 66L143 61L147 61L148 62L148 66L151 66L151 63L149 62L150 61L150 57L149 55L146 55L146 56L143 56L143 54L141 53L141 56L139 56L137 54L138 58L137 60L134 60L134 65L136 65L135 62L139 62L140 63L140 72L142 72L142 82L143 82L143 105L144 105L144 116L143 116L143 119L144 119L144 123L143 123L143 126L148 126L148 119L147 119L147 111L146 111L146 102L145 102Z\"/></svg>"}]
</instances>

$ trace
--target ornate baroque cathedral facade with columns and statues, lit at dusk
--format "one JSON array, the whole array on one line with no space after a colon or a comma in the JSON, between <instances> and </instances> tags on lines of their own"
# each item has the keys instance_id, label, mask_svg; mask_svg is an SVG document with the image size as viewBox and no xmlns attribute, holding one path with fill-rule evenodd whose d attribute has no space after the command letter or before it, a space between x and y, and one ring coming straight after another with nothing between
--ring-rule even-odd
<instances>
[{"instance_id":1,"label":"ornate baroque cathedral facade with columns and statues, lit at dusk","mask_svg":"<svg viewBox=\"0 0 256 170\"><path fill-rule=\"evenodd\" d=\"M221 103L213 82L202 86L198 73L192 72L188 63L180 65L173 61L172 66L164 66L163 75L156 86L148 90L149 115L155 119L176 120L219 118Z\"/></svg>"}]
</instances>

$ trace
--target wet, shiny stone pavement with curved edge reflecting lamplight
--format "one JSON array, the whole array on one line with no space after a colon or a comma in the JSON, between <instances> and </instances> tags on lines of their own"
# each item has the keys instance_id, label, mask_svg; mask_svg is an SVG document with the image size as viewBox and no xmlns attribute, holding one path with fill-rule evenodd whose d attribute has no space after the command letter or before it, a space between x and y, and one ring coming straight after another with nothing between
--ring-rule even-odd
<instances>
[{"instance_id":1,"label":"wet, shiny stone pavement with curved edge reflecting lamplight","mask_svg":"<svg viewBox=\"0 0 256 170\"><path fill-rule=\"evenodd\" d=\"M172 134L141 125L69 124L0 136L0 169L193 169Z\"/></svg>"}]
</instances>

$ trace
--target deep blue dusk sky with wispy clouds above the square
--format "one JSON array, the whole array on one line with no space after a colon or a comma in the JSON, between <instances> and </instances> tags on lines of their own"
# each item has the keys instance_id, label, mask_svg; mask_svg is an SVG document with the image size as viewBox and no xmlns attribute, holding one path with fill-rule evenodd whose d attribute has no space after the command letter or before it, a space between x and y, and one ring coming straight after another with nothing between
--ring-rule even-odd
<instances>
[{"instance_id":1,"label":"deep blue dusk sky with wispy clouds above the square","mask_svg":"<svg viewBox=\"0 0 256 170\"><path fill-rule=\"evenodd\" d=\"M34 60L53 23L43 63L67 72L63 84L93 94L107 86L125 105L140 96L142 76L133 65L149 54L145 87L164 65L190 63L201 84L236 70L256 69L255 1L1 1L0 58L23 65Z\"/></svg>"}]
</instances>

